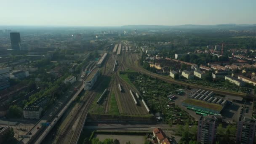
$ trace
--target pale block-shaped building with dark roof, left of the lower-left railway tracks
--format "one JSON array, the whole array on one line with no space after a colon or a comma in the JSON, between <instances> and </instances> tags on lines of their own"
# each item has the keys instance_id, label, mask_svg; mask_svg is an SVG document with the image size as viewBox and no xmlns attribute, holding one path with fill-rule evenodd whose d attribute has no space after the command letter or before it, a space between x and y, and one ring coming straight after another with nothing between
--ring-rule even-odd
<instances>
[{"instance_id":1,"label":"pale block-shaped building with dark roof, left of the lower-left railway tracks","mask_svg":"<svg viewBox=\"0 0 256 144\"><path fill-rule=\"evenodd\" d=\"M42 114L42 107L28 106L23 109L23 116L27 119L39 120Z\"/></svg>"}]
</instances>

